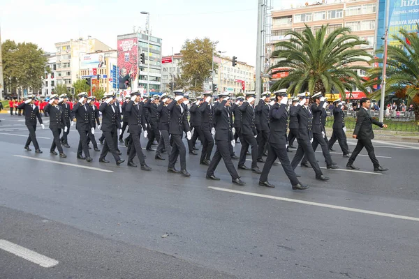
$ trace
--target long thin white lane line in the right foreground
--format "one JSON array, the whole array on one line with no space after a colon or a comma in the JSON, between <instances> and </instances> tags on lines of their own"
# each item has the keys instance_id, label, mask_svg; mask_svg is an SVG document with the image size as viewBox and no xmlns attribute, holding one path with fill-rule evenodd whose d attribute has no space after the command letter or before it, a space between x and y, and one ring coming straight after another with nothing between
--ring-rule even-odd
<instances>
[{"instance_id":1,"label":"long thin white lane line in the right foreground","mask_svg":"<svg viewBox=\"0 0 419 279\"><path fill-rule=\"evenodd\" d=\"M364 209L355 209L353 207L337 206L337 205L333 205L333 204L322 204L320 202L308 202L308 201L304 201L302 199L289 199L288 197L277 197L277 196L263 195L263 194L257 194L257 193L239 191L239 190L231 190L231 189L226 189L226 188L218 188L218 187L212 187L212 186L209 186L208 188L210 188L212 190L218 190L218 191L223 191L223 192L228 192L228 193L236 193L236 194L241 194L241 195L249 195L249 196L253 196L253 197L265 197L266 199L277 199L277 200L280 200L280 201L283 201L283 202L294 202L296 204L307 204L307 205L311 205L311 206L325 207L325 208L328 208L328 209L339 209L339 210L351 211L351 212L356 212L356 213L365 213L365 214L369 214L369 215L383 216L383 217L388 217L388 218L411 220L411 221L419 222L419 218L410 217L410 216L383 213L383 212L370 211L370 210L364 210Z\"/></svg>"}]
</instances>

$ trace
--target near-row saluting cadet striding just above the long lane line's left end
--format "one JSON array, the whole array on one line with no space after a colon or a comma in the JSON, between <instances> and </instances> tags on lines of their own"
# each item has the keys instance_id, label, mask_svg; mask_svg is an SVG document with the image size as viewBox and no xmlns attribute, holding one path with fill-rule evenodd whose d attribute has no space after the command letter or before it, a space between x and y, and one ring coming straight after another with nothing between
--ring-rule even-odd
<instances>
[{"instance_id":1,"label":"near-row saluting cadet striding just above the long lane line's left end","mask_svg":"<svg viewBox=\"0 0 419 279\"><path fill-rule=\"evenodd\" d=\"M220 163L221 158L224 160L224 164L231 176L231 182L243 186L243 181L240 180L239 174L235 169L233 162L231 161L230 144L235 144L232 131L232 116L230 111L230 101L228 100L228 93L219 94L219 105L214 109L214 123L215 124L215 144L216 151L212 157L210 166L207 169L207 179L220 180L214 175L214 171L218 164Z\"/></svg>"}]
</instances>

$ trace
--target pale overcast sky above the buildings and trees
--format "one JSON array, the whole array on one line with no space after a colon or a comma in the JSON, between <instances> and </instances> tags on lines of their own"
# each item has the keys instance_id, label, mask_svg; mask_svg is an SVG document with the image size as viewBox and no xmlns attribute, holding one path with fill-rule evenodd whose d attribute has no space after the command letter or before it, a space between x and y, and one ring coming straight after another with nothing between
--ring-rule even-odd
<instances>
[{"instance_id":1,"label":"pale overcast sky above the buildings and trees","mask_svg":"<svg viewBox=\"0 0 419 279\"><path fill-rule=\"evenodd\" d=\"M270 5L275 10L290 3ZM207 37L218 40L226 56L256 65L258 0L0 0L0 7L2 41L36 43L46 52L55 52L54 43L87 36L116 49L117 35L145 29L140 11L146 11L152 36L163 39L163 56L172 48L179 52L186 39Z\"/></svg>"}]
</instances>

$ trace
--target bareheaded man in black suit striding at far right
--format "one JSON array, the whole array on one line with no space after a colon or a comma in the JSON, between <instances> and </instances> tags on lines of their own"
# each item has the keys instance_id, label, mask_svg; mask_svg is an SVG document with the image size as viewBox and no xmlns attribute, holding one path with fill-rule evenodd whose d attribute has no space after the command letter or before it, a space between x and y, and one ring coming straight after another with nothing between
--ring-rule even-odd
<instances>
[{"instance_id":1,"label":"bareheaded man in black suit striding at far right","mask_svg":"<svg viewBox=\"0 0 419 279\"><path fill-rule=\"evenodd\" d=\"M361 150L365 147L368 152L369 159L371 159L372 164L374 165L374 172L385 172L388 168L382 167L374 153L374 146L372 146L371 140L374 139L374 131L372 130L372 124L381 127L387 128L387 125L384 123L378 122L373 119L368 112L369 106L371 105L371 100L369 98L361 98L360 100L361 109L357 114L355 129L353 130L352 137L357 139L358 142L353 149L351 158L349 158L346 167L348 169L359 169L359 167L355 167L353 162L355 162L356 157L361 152Z\"/></svg>"}]
</instances>

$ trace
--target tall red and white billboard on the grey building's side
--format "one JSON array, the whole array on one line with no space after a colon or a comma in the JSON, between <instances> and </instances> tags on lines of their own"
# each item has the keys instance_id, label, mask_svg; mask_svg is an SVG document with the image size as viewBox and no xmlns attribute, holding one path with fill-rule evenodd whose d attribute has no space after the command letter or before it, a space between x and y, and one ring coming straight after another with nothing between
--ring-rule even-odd
<instances>
[{"instance_id":1,"label":"tall red and white billboard on the grey building's side","mask_svg":"<svg viewBox=\"0 0 419 279\"><path fill-rule=\"evenodd\" d=\"M138 84L138 40L118 40L118 89L137 90Z\"/></svg>"}]
</instances>

